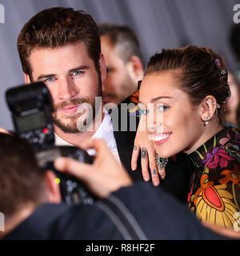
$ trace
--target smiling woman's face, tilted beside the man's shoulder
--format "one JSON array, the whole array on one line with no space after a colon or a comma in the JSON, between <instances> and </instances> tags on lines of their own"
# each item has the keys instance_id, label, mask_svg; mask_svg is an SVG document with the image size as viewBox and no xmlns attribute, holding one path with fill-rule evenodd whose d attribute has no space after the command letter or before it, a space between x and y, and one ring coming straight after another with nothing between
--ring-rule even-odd
<instances>
[{"instance_id":1,"label":"smiling woman's face, tilted beside the man's shoulder","mask_svg":"<svg viewBox=\"0 0 240 256\"><path fill-rule=\"evenodd\" d=\"M160 157L181 151L190 154L202 145L201 106L194 106L181 90L176 71L147 74L140 87L139 108L145 110L142 118Z\"/></svg>"}]
</instances>

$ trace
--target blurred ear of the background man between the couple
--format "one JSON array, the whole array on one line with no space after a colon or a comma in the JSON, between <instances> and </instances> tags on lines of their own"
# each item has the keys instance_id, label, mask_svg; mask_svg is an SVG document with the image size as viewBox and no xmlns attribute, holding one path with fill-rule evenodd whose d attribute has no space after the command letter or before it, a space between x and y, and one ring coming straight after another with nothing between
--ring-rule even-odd
<instances>
[{"instance_id":1,"label":"blurred ear of the background man between the couple","mask_svg":"<svg viewBox=\"0 0 240 256\"><path fill-rule=\"evenodd\" d=\"M132 56L127 62L126 68L135 84L137 84L139 80L142 80L143 64L138 56Z\"/></svg>"}]
</instances>

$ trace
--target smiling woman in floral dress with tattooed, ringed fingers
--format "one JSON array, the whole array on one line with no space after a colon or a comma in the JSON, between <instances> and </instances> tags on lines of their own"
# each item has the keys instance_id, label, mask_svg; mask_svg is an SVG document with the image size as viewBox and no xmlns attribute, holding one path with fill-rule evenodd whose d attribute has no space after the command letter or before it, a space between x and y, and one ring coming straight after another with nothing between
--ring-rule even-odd
<instances>
[{"instance_id":1,"label":"smiling woman in floral dress with tattooed, ringed fingers","mask_svg":"<svg viewBox=\"0 0 240 256\"><path fill-rule=\"evenodd\" d=\"M154 178L167 158L188 154L194 164L190 210L203 222L239 231L240 131L224 126L227 77L223 59L204 47L162 50L150 58L139 90L142 117L132 167L141 152Z\"/></svg>"}]
</instances>

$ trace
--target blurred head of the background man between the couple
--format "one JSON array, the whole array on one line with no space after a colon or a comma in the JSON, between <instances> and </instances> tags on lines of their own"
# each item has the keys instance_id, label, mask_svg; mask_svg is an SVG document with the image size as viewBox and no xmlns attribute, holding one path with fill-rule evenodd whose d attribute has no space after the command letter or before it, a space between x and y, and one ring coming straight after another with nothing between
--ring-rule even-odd
<instances>
[{"instance_id":1,"label":"blurred head of the background man between the couple","mask_svg":"<svg viewBox=\"0 0 240 256\"><path fill-rule=\"evenodd\" d=\"M140 44L128 26L103 23L98 28L106 62L102 100L104 104L113 102L118 105L138 89L138 81L142 79L144 67Z\"/></svg>"}]
</instances>

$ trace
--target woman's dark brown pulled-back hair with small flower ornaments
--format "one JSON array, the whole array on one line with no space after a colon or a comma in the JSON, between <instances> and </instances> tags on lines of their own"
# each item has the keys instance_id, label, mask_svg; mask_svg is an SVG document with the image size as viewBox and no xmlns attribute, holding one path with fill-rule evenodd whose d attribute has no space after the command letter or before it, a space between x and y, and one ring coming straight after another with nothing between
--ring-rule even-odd
<instances>
[{"instance_id":1,"label":"woman's dark brown pulled-back hair with small flower ornaments","mask_svg":"<svg viewBox=\"0 0 240 256\"><path fill-rule=\"evenodd\" d=\"M228 72L221 56L206 47L186 46L162 50L150 58L145 75L159 71L176 70L179 86L198 105L207 95L217 101L218 118L222 122L225 105L230 98ZM160 85L159 85L160 86Z\"/></svg>"}]
</instances>

